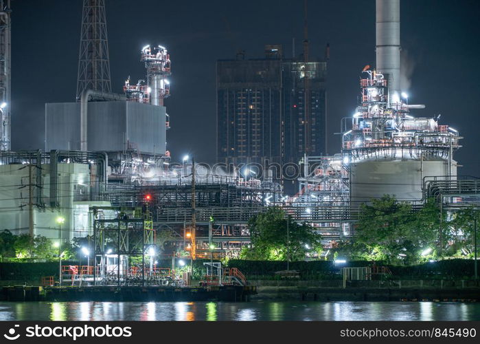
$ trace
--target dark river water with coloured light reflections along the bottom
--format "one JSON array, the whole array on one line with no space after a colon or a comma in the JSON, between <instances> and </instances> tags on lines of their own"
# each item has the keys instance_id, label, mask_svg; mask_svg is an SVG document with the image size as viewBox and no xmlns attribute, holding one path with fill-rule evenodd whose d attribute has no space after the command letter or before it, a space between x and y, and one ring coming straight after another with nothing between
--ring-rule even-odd
<instances>
[{"instance_id":1,"label":"dark river water with coloured light reflections along the bottom","mask_svg":"<svg viewBox=\"0 0 480 344\"><path fill-rule=\"evenodd\" d=\"M0 302L0 321L457 321L480 303L434 302Z\"/></svg>"}]
</instances>

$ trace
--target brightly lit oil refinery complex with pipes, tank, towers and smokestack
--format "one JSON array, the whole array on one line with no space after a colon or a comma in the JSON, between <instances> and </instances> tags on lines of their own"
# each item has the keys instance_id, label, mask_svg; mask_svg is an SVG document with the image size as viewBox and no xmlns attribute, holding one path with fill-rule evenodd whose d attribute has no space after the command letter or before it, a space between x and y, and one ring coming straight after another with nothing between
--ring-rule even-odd
<instances>
[{"instance_id":1,"label":"brightly lit oil refinery complex with pipes, tank, towers and smokestack","mask_svg":"<svg viewBox=\"0 0 480 344\"><path fill-rule=\"evenodd\" d=\"M10 9L10 1L0 2ZM137 83L128 76L123 94L112 93L104 1L93 3L84 1L77 99L45 104L43 151L10 151L10 11L0 16L1 61L6 61L0 75L0 182L12 186L1 189L0 222L14 234L60 243L91 236L94 269L85 274L93 275L93 283L137 283L136 277L151 274L160 233L168 233L175 250L188 251L192 259L238 257L250 242L249 219L269 206L311 224L328 255L328 248L354 237L360 205L374 198L394 195L422 206L437 197L446 208L479 203L480 183L457 175L458 131L439 116L416 116L425 106L410 104L400 88L400 0L376 0L376 67L361 72L360 102L341 122L341 151L319 156L306 151L295 195L282 192L282 180L268 173L263 178L245 173L248 165L203 174L192 157L172 162L165 101L170 52L157 43L143 47L139 61L145 76ZM302 69L301 61L295 63ZM321 67L326 69L326 62ZM305 89L295 97L302 98ZM255 106L260 102L249 109ZM297 103L288 107L301 110ZM315 140L323 144L319 133ZM129 257L142 258L141 270Z\"/></svg>"}]
</instances>

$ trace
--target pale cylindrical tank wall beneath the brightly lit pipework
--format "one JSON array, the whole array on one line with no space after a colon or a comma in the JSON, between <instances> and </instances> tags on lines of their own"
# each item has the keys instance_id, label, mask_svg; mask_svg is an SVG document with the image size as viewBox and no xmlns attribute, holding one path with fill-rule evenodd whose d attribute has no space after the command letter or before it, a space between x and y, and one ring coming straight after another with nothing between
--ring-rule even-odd
<instances>
[{"instance_id":1,"label":"pale cylindrical tank wall beneath the brightly lit pipework","mask_svg":"<svg viewBox=\"0 0 480 344\"><path fill-rule=\"evenodd\" d=\"M422 199L422 178L447 176L448 160L442 158L372 159L352 162L350 196L352 206L370 202L372 198L392 195L398 201ZM423 170L423 171L422 171ZM456 162L452 176L457 175Z\"/></svg>"}]
</instances>

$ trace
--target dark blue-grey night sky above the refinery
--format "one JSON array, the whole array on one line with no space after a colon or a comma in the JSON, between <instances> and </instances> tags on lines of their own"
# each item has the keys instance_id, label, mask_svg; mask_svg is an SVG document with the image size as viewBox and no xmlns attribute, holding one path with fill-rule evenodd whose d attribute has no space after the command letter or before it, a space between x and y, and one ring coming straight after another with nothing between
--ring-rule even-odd
<instances>
[{"instance_id":1,"label":"dark blue-grey night sky above the refinery","mask_svg":"<svg viewBox=\"0 0 480 344\"><path fill-rule=\"evenodd\" d=\"M73 101L76 92L81 0L12 0L12 149L43 149L45 103ZM356 106L363 66L375 65L375 1L309 1L310 54L328 65L328 153L339 152L340 118ZM214 162L217 59L243 49L261 57L264 44L292 38L301 50L303 1L106 0L113 92L125 78L143 78L139 50L168 48L171 93L168 149ZM480 176L480 1L402 0L401 38L413 69L409 103L425 104L417 116L442 114L442 124L464 140L456 159L464 175Z\"/></svg>"}]
</instances>

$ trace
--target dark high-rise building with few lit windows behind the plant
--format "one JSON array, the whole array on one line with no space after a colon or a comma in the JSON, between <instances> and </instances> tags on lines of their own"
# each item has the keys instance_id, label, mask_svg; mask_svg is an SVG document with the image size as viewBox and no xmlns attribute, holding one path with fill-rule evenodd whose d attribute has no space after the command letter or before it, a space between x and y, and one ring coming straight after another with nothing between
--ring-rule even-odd
<instances>
[{"instance_id":1,"label":"dark high-rise building with few lit windows behind the plant","mask_svg":"<svg viewBox=\"0 0 480 344\"><path fill-rule=\"evenodd\" d=\"M298 163L326 153L325 61L264 58L217 61L217 160L227 164Z\"/></svg>"}]
</instances>

